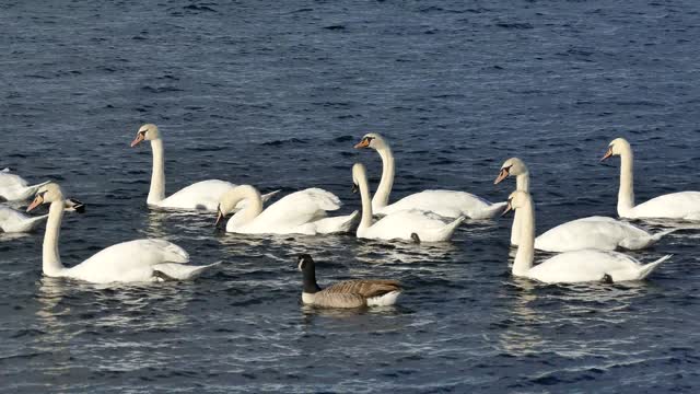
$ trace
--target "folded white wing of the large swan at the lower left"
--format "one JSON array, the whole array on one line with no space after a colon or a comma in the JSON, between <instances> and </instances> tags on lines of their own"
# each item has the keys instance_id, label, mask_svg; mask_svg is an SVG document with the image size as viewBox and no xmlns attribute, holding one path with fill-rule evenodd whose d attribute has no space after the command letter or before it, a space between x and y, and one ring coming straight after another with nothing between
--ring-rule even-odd
<instances>
[{"instance_id":1,"label":"folded white wing of the large swan at the lower left","mask_svg":"<svg viewBox=\"0 0 700 394\"><path fill-rule=\"evenodd\" d=\"M187 263L185 250L165 240L135 240L106 247L69 268L66 276L95 283L149 280L153 266Z\"/></svg>"}]
</instances>

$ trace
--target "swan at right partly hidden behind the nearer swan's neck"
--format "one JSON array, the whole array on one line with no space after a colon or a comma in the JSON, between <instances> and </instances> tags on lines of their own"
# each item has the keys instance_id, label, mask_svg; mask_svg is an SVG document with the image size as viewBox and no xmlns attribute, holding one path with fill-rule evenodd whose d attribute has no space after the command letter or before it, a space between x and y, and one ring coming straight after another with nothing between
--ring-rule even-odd
<instances>
[{"instance_id":1,"label":"swan at right partly hidden behind the nearer swan's neck","mask_svg":"<svg viewBox=\"0 0 700 394\"><path fill-rule=\"evenodd\" d=\"M516 190L529 193L529 170L518 158L506 160L494 184L515 176ZM517 245L522 213L515 211L511 244ZM607 217L587 217L559 224L535 240L535 248L547 252L569 252L584 248L615 251L616 248L641 250L658 242L678 229L651 234L648 231L620 220Z\"/></svg>"}]
</instances>

